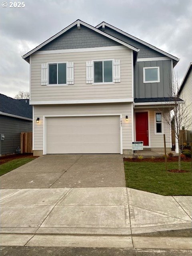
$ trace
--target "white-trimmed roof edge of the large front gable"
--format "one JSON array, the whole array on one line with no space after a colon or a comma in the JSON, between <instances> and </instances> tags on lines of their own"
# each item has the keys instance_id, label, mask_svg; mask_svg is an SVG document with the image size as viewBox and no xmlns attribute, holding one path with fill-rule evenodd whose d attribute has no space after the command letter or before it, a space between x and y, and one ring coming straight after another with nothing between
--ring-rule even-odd
<instances>
[{"instance_id":1,"label":"white-trimmed roof edge of the large front gable","mask_svg":"<svg viewBox=\"0 0 192 256\"><path fill-rule=\"evenodd\" d=\"M43 42L42 44L40 44L39 46L37 46L36 48L34 48L33 50L31 50L30 52L24 54L22 56L22 58L26 61L28 61L28 57L33 54L34 52L40 50L40 48L42 48L43 46L45 46L46 44L50 43L52 40L56 39L58 36L64 34L66 31L68 31L70 28L74 27L74 26L77 26L79 29L80 29L80 25L83 25L83 26L86 26L87 28L90 28L91 30L94 30L95 32L99 33L99 34L102 34L103 36L106 36L107 38L110 38L128 48L130 48L131 50L133 50L134 52L138 53L139 52L139 49L130 45L130 44L127 44L126 42L123 42L121 40L119 40L118 38L115 38L114 36L111 36L109 34L106 34L105 32L87 24L86 22L83 22L82 20L76 20L75 22L73 22L72 24L70 24L69 26L67 26L66 28L64 28L63 30L61 30L60 32L58 32L57 34L55 34L54 36L50 37L48 40L46 40L45 42ZM29 62L29 61L28 61Z\"/></svg>"}]
</instances>

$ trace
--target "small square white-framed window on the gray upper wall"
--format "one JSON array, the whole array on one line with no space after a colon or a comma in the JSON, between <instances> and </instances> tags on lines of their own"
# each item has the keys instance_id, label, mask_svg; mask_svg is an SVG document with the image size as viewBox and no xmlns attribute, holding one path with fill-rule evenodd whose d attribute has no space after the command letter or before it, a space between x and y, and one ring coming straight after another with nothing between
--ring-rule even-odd
<instances>
[{"instance_id":1,"label":"small square white-framed window on the gray upper wall","mask_svg":"<svg viewBox=\"0 0 192 256\"><path fill-rule=\"evenodd\" d=\"M144 83L159 83L160 82L159 67L143 68L143 82Z\"/></svg>"}]
</instances>

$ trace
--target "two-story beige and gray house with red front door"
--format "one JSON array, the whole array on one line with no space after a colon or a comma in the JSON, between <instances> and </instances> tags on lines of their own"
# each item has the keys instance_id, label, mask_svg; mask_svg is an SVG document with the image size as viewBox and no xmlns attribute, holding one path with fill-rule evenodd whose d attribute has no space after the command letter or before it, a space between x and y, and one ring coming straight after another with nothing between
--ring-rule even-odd
<instances>
[{"instance_id":1,"label":"two-story beige and gray house with red front door","mask_svg":"<svg viewBox=\"0 0 192 256\"><path fill-rule=\"evenodd\" d=\"M105 22L77 20L24 56L30 63L34 155L163 150L179 59ZM173 102L174 103L174 102ZM37 120L37 121L36 121Z\"/></svg>"}]
</instances>

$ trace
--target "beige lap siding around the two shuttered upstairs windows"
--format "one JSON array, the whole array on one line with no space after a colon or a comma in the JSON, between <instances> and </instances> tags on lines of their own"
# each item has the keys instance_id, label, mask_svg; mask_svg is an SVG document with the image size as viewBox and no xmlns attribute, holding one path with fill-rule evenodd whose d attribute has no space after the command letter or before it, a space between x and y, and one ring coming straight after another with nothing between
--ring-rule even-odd
<instances>
[{"instance_id":1,"label":"beige lap siding around the two shuttered upstairs windows","mask_svg":"<svg viewBox=\"0 0 192 256\"><path fill-rule=\"evenodd\" d=\"M58 54L32 54L30 58L31 101L93 100L132 98L132 50L104 50ZM86 61L120 60L121 82L114 84L86 84ZM42 86L41 64L46 62L74 62L74 84L67 86Z\"/></svg>"}]
</instances>

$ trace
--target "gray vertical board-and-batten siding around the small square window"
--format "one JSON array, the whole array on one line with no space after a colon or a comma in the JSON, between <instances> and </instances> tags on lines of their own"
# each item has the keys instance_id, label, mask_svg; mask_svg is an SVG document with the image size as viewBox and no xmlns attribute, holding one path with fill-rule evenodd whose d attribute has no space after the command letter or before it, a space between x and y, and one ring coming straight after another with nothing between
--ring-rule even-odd
<instances>
[{"instance_id":1,"label":"gray vertical board-and-batten siding around the small square window","mask_svg":"<svg viewBox=\"0 0 192 256\"><path fill-rule=\"evenodd\" d=\"M143 68L160 68L159 83L143 83ZM171 81L171 60L137 62L134 70L134 98L169 97Z\"/></svg>"}]
</instances>

